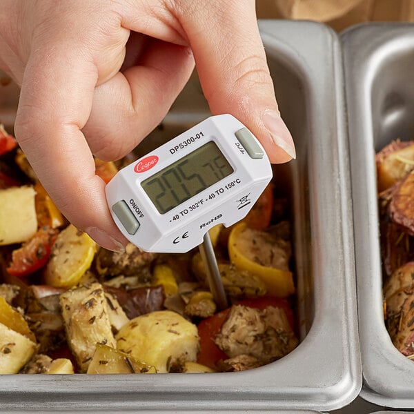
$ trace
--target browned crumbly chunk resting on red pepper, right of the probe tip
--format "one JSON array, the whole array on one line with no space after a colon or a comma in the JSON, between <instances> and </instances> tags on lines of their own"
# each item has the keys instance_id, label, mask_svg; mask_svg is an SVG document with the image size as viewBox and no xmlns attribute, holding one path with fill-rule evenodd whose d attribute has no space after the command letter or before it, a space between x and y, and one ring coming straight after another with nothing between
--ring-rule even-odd
<instances>
[{"instance_id":1,"label":"browned crumbly chunk resting on red pepper, right of the probe tip","mask_svg":"<svg viewBox=\"0 0 414 414\"><path fill-rule=\"evenodd\" d=\"M250 355L263 365L288 354L298 340L281 308L233 305L215 343L230 358Z\"/></svg>"}]
</instances>

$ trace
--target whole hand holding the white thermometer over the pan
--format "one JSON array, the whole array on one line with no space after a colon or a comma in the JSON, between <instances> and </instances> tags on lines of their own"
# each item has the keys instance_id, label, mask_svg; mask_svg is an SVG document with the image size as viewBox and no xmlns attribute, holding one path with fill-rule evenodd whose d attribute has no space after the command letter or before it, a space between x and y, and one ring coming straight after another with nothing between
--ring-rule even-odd
<instances>
[{"instance_id":1,"label":"whole hand holding the white thermometer over the pan","mask_svg":"<svg viewBox=\"0 0 414 414\"><path fill-rule=\"evenodd\" d=\"M0 67L21 85L14 133L58 208L101 246L112 221L92 154L115 160L164 118L194 63L213 115L231 113L270 161L295 157L253 0L4 0Z\"/></svg>"}]
</instances>

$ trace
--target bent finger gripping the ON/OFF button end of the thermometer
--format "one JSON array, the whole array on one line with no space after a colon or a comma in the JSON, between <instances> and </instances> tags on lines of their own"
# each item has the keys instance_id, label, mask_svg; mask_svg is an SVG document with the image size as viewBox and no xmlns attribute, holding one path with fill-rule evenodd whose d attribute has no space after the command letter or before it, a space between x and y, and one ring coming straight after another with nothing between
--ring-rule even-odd
<instances>
[{"instance_id":1,"label":"bent finger gripping the ON/OFF button end of the thermometer","mask_svg":"<svg viewBox=\"0 0 414 414\"><path fill-rule=\"evenodd\" d=\"M81 128L97 69L79 53L57 47L32 53L26 66L15 133L30 164L63 215L101 246L121 250L126 239L106 204L104 183ZM62 65L61 62L66 64Z\"/></svg>"}]
</instances>

